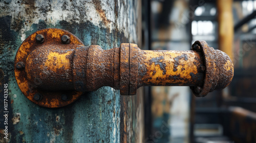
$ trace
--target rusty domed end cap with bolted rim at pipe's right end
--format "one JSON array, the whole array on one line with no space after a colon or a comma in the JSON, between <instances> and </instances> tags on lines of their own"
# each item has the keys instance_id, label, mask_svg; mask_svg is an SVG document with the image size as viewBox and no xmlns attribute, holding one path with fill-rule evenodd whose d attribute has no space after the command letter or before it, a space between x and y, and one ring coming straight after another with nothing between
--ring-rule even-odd
<instances>
[{"instance_id":1,"label":"rusty domed end cap with bolted rim at pipe's right end","mask_svg":"<svg viewBox=\"0 0 256 143\"><path fill-rule=\"evenodd\" d=\"M205 78L203 87L190 87L197 97L204 97L214 90L227 87L233 78L233 64L229 56L209 47L205 41L196 41L192 50L201 51L204 56Z\"/></svg>"}]
</instances>

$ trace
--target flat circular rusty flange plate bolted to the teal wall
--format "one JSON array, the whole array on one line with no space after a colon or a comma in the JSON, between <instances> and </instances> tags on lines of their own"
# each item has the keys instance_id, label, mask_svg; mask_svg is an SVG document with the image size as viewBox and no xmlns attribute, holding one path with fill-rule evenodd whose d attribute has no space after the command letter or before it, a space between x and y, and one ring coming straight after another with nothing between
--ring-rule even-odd
<instances>
[{"instance_id":1,"label":"flat circular rusty flange plate bolted to the teal wall","mask_svg":"<svg viewBox=\"0 0 256 143\"><path fill-rule=\"evenodd\" d=\"M41 34L44 36L44 42L40 43L36 41L36 35ZM63 35L67 35L70 37L70 42L65 44L65 48L68 49L76 49L77 47L84 46L83 43L73 34L68 31L61 30L58 28L47 28L44 30L37 31L30 35L25 41L20 45L18 51L15 56L14 61L14 72L15 78L18 84L19 89L22 93L32 102L36 103L37 105L49 107L49 108L57 108L66 106L71 104L75 100L77 100L82 92L78 91L45 91L40 90L37 87L38 80L34 82L30 82L27 78L25 69L17 69L16 64L18 62L23 62L26 64L26 60L28 55L35 49L40 48L44 45L60 45L63 43L61 42L61 37ZM40 101L34 99L34 95L39 94L42 96ZM65 95L65 100L61 99L61 96ZM66 99L67 98L67 99Z\"/></svg>"}]
</instances>

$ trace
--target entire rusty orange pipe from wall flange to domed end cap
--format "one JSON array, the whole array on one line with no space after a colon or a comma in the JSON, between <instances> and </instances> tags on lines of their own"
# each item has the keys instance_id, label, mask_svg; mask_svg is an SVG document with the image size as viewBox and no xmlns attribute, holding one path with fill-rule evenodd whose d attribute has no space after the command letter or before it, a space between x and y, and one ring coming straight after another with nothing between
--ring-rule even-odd
<instances>
[{"instance_id":1,"label":"entire rusty orange pipe from wall flange to domed end cap","mask_svg":"<svg viewBox=\"0 0 256 143\"><path fill-rule=\"evenodd\" d=\"M44 42L36 42L38 34L45 37ZM64 43L63 36L70 41ZM35 93L28 92L25 81L30 87L36 83L34 89L39 93L87 92L109 86L120 89L121 95L135 95L142 86L178 85L189 86L196 96L203 97L225 88L233 77L227 54L208 47L205 41L196 41L192 47L189 51L154 51L123 43L103 50L98 45L85 47L71 33L51 28L32 34L20 46L15 64L24 62L25 70L15 67L15 76L27 97Z\"/></svg>"}]
</instances>

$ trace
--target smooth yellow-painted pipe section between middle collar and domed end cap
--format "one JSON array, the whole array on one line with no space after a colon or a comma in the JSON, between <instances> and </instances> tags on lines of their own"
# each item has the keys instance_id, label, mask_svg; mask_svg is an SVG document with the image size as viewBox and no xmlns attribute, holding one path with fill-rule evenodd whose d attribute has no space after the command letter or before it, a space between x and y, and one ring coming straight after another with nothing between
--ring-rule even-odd
<instances>
[{"instance_id":1,"label":"smooth yellow-painted pipe section between middle collar and domed end cap","mask_svg":"<svg viewBox=\"0 0 256 143\"><path fill-rule=\"evenodd\" d=\"M198 71L203 66L199 52L143 50L141 54L143 61L139 64L146 67L146 74L139 77L142 86L203 84L204 73Z\"/></svg>"}]
</instances>

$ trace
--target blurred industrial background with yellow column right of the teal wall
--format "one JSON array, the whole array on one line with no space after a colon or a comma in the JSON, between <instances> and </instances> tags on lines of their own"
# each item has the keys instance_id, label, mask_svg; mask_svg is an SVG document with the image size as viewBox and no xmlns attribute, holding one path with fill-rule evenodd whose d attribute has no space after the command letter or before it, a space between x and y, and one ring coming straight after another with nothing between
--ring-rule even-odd
<instances>
[{"instance_id":1,"label":"blurred industrial background with yellow column right of the teal wall","mask_svg":"<svg viewBox=\"0 0 256 143\"><path fill-rule=\"evenodd\" d=\"M226 52L231 84L206 97L189 87L145 88L145 142L256 142L256 1L142 1L144 49Z\"/></svg>"}]
</instances>

